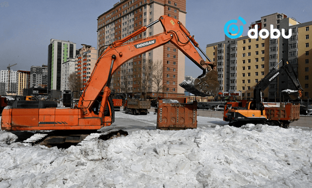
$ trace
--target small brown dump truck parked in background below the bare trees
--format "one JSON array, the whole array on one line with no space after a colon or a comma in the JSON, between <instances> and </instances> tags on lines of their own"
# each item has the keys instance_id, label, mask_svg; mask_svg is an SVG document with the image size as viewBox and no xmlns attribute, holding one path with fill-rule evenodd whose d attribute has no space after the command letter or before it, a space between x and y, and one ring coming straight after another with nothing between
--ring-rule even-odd
<instances>
[{"instance_id":1,"label":"small brown dump truck parked in background below the bare trees","mask_svg":"<svg viewBox=\"0 0 312 188\"><path fill-rule=\"evenodd\" d=\"M148 109L151 108L151 101L142 101L141 99L126 99L123 105L125 114L147 115Z\"/></svg>"}]
</instances>

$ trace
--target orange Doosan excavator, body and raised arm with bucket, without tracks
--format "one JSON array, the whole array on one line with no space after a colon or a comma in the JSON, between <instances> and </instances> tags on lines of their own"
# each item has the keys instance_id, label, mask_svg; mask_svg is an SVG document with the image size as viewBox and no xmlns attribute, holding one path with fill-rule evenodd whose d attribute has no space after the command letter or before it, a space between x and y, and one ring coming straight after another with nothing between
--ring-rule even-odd
<instances>
[{"instance_id":1,"label":"orange Doosan excavator, body and raised arm with bucket, without tracks","mask_svg":"<svg viewBox=\"0 0 312 188\"><path fill-rule=\"evenodd\" d=\"M163 33L128 42L157 22L162 24ZM115 113L109 88L113 73L136 55L151 51L169 41L203 70L203 74L192 82L184 82L180 85L197 96L217 94L219 83L215 63L211 62L199 48L194 36L190 35L180 21L161 16L150 25L108 46L98 58L77 106L57 108L53 107L51 102L45 104L44 101L16 101L12 108L3 109L1 129L5 131L98 130L103 126L111 125ZM195 47L205 55L208 62L202 59Z\"/></svg>"}]
</instances>

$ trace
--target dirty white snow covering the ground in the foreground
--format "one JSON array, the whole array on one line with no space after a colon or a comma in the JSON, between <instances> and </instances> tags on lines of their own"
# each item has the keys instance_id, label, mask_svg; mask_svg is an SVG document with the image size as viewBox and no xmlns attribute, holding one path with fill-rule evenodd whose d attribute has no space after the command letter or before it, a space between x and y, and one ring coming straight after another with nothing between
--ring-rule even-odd
<instances>
[{"instance_id":1,"label":"dirty white snow covering the ground in the foreground","mask_svg":"<svg viewBox=\"0 0 312 188\"><path fill-rule=\"evenodd\" d=\"M129 136L68 149L0 131L0 188L312 187L312 131L204 117L195 130L162 131L152 113L116 117Z\"/></svg>"}]
</instances>

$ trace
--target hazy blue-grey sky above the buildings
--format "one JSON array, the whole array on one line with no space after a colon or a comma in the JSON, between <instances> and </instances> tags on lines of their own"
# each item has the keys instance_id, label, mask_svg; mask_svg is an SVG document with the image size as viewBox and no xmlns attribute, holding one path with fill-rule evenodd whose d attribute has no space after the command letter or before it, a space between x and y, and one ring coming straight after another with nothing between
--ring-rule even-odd
<instances>
[{"instance_id":1,"label":"hazy blue-grey sky above the buildings","mask_svg":"<svg viewBox=\"0 0 312 188\"><path fill-rule=\"evenodd\" d=\"M98 49L97 18L116 2L0 0L0 70L15 63L14 71L47 64L51 38L72 41L77 49L80 44ZM186 28L206 51L207 44L224 40L225 23L238 17L247 22L243 35L247 35L251 22L276 12L301 23L312 21L312 0L186 0L186 12ZM202 73L187 57L185 62L185 75L197 77Z\"/></svg>"}]
</instances>

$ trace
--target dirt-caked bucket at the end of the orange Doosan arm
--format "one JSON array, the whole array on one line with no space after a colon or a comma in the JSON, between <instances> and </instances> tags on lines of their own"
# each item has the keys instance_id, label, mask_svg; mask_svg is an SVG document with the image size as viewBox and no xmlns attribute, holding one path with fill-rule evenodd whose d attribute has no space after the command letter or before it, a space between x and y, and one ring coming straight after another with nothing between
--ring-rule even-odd
<instances>
[{"instance_id":1,"label":"dirt-caked bucket at the end of the orange Doosan arm","mask_svg":"<svg viewBox=\"0 0 312 188\"><path fill-rule=\"evenodd\" d=\"M211 70L200 75L191 81L184 81L179 84L185 90L196 96L207 97L214 96L219 91L218 72Z\"/></svg>"}]
</instances>

